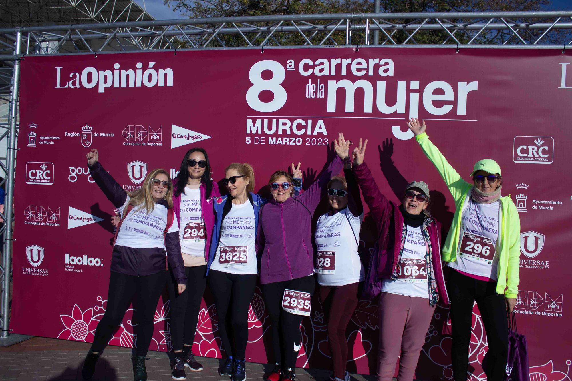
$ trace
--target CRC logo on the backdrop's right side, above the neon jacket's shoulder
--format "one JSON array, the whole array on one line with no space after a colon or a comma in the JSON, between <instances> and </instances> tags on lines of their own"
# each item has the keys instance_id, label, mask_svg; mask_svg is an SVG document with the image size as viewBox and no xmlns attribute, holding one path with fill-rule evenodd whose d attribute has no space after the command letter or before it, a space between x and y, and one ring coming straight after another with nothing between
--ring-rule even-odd
<instances>
[{"instance_id":1,"label":"CRC logo on the backdrop's right side, above the neon jacket's shoulder","mask_svg":"<svg viewBox=\"0 0 572 381\"><path fill-rule=\"evenodd\" d=\"M515 136L513 161L529 164L551 164L554 160L554 139L550 136Z\"/></svg>"}]
</instances>

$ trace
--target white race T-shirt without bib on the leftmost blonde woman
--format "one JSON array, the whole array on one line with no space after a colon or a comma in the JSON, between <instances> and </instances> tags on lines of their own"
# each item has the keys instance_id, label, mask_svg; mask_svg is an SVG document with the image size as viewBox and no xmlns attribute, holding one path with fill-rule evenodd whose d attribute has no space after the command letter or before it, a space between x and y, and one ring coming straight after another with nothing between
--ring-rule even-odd
<instances>
[{"instance_id":1,"label":"white race T-shirt without bib on the leftmost blonde woman","mask_svg":"<svg viewBox=\"0 0 572 381\"><path fill-rule=\"evenodd\" d=\"M121 217L129 204L129 196L119 208ZM117 233L116 245L144 249L150 247L165 248L163 231L167 225L167 208L164 205L155 204L148 214L145 205L133 207L121 223ZM178 231L178 221L173 217L173 225L167 233Z\"/></svg>"}]
</instances>

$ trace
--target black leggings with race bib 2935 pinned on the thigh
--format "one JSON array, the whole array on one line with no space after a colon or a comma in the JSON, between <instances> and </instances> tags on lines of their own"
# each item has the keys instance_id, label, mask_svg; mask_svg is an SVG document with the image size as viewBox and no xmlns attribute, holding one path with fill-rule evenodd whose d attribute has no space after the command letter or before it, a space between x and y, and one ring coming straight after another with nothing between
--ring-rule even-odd
<instances>
[{"instance_id":1,"label":"black leggings with race bib 2935 pinned on the thigh","mask_svg":"<svg viewBox=\"0 0 572 381\"><path fill-rule=\"evenodd\" d=\"M271 340L274 362L282 364L284 370L291 369L293 371L296 368L296 359L302 345L300 323L302 323L303 316L282 309L284 289L313 293L316 288L316 281L313 275L308 275L292 280L263 284L261 288L264 304L272 321Z\"/></svg>"}]
</instances>

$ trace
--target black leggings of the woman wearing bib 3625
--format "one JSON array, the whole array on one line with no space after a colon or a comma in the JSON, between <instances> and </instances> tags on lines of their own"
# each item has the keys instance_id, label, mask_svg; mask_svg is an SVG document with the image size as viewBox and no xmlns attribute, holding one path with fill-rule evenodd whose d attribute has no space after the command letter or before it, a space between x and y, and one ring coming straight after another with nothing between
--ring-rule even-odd
<instances>
[{"instance_id":1,"label":"black leggings of the woman wearing bib 3625","mask_svg":"<svg viewBox=\"0 0 572 381\"><path fill-rule=\"evenodd\" d=\"M215 297L219 316L219 335L228 356L246 357L248 343L248 307L256 287L256 274L231 274L211 269L208 276L210 292ZM230 311L229 311L230 308ZM230 312L231 319L227 319ZM228 332L232 332L232 345Z\"/></svg>"}]
</instances>

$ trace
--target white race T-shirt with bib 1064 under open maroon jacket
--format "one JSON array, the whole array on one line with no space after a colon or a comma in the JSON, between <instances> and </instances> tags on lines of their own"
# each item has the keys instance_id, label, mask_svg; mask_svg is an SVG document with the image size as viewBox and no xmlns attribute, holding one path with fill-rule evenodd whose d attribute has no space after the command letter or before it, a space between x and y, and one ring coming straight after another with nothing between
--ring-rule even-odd
<instances>
[{"instance_id":1,"label":"white race T-shirt with bib 1064 under open maroon jacket","mask_svg":"<svg viewBox=\"0 0 572 381\"><path fill-rule=\"evenodd\" d=\"M427 284L427 261L425 260L425 239L422 227L414 228L406 225L407 236L401 255L401 271L396 280L384 279L382 292L398 295L429 298ZM398 242L395 243L399 244ZM437 254L439 255L439 253Z\"/></svg>"}]
</instances>

